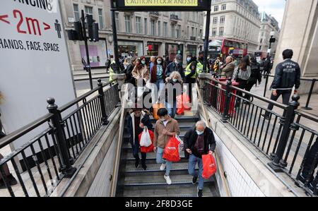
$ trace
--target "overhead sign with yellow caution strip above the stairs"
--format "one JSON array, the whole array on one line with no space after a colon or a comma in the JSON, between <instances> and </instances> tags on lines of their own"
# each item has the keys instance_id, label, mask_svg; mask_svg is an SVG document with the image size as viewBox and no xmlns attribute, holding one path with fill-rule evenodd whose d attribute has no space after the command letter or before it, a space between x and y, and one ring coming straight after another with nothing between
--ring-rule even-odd
<instances>
[{"instance_id":1,"label":"overhead sign with yellow caution strip above the stairs","mask_svg":"<svg viewBox=\"0 0 318 211\"><path fill-rule=\"evenodd\" d=\"M207 0L112 0L117 11L207 11L211 1Z\"/></svg>"}]
</instances>

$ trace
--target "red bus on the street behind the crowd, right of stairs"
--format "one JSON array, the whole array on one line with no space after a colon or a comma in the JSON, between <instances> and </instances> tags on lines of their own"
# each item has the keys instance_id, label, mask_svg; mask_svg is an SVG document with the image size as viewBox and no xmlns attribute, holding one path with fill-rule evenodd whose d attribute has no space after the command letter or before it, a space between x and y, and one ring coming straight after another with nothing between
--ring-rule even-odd
<instances>
[{"instance_id":1,"label":"red bus on the street behind the crowd, right of stairs","mask_svg":"<svg viewBox=\"0 0 318 211\"><path fill-rule=\"evenodd\" d=\"M247 42L226 38L211 40L208 44L208 54L211 59L216 59L217 56L244 57L247 55Z\"/></svg>"}]
</instances>

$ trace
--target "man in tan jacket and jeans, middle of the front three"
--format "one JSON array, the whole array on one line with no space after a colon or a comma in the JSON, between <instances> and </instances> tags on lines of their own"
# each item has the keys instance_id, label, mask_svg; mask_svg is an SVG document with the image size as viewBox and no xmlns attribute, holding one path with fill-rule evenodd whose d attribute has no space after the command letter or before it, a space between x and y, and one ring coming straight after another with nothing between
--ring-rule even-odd
<instances>
[{"instance_id":1,"label":"man in tan jacket and jeans, middle of the front three","mask_svg":"<svg viewBox=\"0 0 318 211\"><path fill-rule=\"evenodd\" d=\"M177 120L172 119L168 115L167 109L159 109L158 116L160 119L155 123L153 147L157 154L156 161L158 164L161 164L160 170L165 170L164 179L168 185L171 185L172 181L170 179L170 169L172 162L163 159L163 151L165 150L165 145L167 145L170 138L180 134L180 129Z\"/></svg>"}]
</instances>

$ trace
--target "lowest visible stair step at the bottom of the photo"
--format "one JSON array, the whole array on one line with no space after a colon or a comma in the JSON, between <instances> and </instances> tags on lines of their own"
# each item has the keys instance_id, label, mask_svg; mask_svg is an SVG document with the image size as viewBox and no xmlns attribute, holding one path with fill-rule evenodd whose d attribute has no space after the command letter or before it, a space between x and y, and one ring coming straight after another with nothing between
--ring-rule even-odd
<instances>
[{"instance_id":1,"label":"lowest visible stair step at the bottom of the photo","mask_svg":"<svg viewBox=\"0 0 318 211\"><path fill-rule=\"evenodd\" d=\"M209 185L209 186L207 186ZM204 197L218 197L213 189L216 188L213 182L206 183L204 187ZM123 193L119 196L123 197L196 197L196 185L185 184L182 186L130 186L125 187Z\"/></svg>"}]
</instances>

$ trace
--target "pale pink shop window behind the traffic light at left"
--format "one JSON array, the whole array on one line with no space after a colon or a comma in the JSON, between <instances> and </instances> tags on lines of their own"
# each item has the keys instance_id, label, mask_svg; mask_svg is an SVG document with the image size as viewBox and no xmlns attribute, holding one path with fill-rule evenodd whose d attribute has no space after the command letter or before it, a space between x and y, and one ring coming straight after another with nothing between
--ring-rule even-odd
<instances>
[{"instance_id":1,"label":"pale pink shop window behind the traffic light at left","mask_svg":"<svg viewBox=\"0 0 318 211\"><path fill-rule=\"evenodd\" d=\"M79 41L81 58L86 60L86 48L83 41ZM90 66L92 68L105 67L107 61L106 40L100 39L100 42L88 42L88 52L90 54Z\"/></svg>"}]
</instances>

